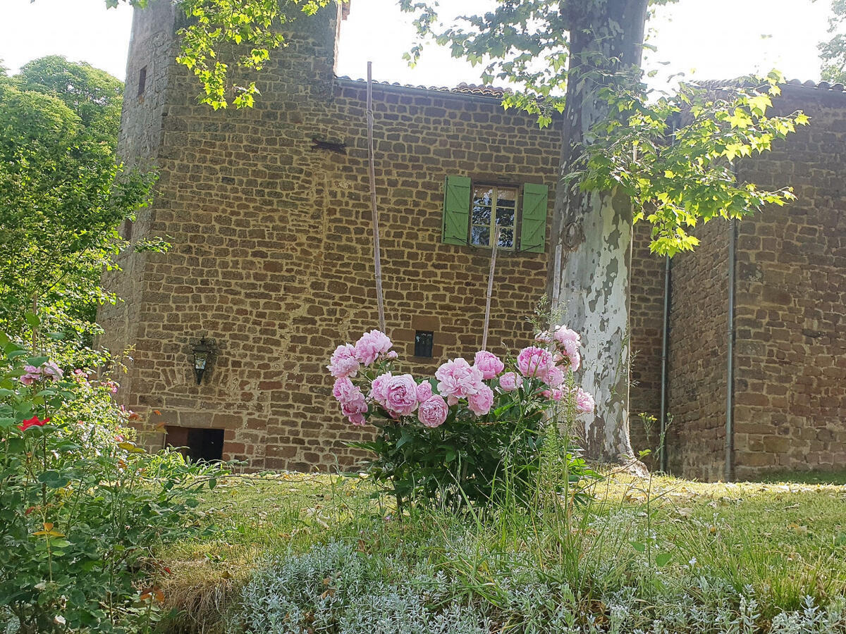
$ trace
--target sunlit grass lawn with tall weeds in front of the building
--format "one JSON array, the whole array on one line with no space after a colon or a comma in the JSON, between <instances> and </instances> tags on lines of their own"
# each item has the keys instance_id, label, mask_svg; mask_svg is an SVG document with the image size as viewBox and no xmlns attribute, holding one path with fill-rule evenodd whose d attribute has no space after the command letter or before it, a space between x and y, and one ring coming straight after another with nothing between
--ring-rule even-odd
<instances>
[{"instance_id":1,"label":"sunlit grass lawn with tall weeds in front of the building","mask_svg":"<svg viewBox=\"0 0 846 634\"><path fill-rule=\"evenodd\" d=\"M401 520L373 494L365 478L294 473L228 478L207 491L203 521L215 532L160 554L172 571L163 581L166 600L182 611L173 630L238 631L233 612L255 611L252 598L242 601L247 584L253 583L250 597L259 588L261 605L276 605L281 599L265 596L272 593L267 588L285 587L297 574L296 584L309 585L311 577L296 571L317 556L310 549L346 544L349 552L332 557L351 563L326 564L312 575L319 587L296 598L320 604L305 611L305 622L323 618L327 601L334 602L333 619L349 620L338 615L343 583L354 575L339 581L344 571L332 567L352 566L355 575L386 588L417 588L413 579L437 578L441 593L420 591L422 604L439 614L470 606L484 620L479 631L846 631L838 629L846 594L841 484L702 484L609 474L591 485L584 505L486 517L415 511ZM286 561L294 563L280 563ZM294 619L285 609L283 620ZM815 621L825 609L826 623ZM815 622L818 629L810 629Z\"/></svg>"}]
</instances>

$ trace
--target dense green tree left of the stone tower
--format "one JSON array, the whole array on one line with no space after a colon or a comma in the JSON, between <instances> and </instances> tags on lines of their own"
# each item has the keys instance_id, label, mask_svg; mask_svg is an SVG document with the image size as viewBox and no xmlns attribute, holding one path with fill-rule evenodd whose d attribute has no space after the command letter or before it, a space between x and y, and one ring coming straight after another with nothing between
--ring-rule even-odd
<instances>
[{"instance_id":1,"label":"dense green tree left of the stone tower","mask_svg":"<svg viewBox=\"0 0 846 634\"><path fill-rule=\"evenodd\" d=\"M113 301L102 268L153 180L116 163L121 93L63 57L0 81L0 330L23 336L37 305L46 328L90 340L97 303Z\"/></svg>"}]
</instances>

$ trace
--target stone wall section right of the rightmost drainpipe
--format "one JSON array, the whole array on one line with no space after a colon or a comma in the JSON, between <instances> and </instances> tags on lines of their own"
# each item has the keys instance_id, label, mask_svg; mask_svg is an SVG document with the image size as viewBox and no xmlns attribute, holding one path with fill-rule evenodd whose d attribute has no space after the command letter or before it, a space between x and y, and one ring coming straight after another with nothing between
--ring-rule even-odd
<instances>
[{"instance_id":1,"label":"stone wall section right of the rightmost drainpipe","mask_svg":"<svg viewBox=\"0 0 846 634\"><path fill-rule=\"evenodd\" d=\"M797 200L739 223L735 473L846 462L846 95L786 86L810 126L740 177Z\"/></svg>"}]
</instances>

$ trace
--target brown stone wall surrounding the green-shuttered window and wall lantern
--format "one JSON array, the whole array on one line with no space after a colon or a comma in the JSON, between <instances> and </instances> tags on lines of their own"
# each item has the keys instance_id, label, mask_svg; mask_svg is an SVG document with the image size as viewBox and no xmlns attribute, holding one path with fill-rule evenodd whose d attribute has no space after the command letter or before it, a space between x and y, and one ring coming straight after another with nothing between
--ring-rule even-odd
<instances>
[{"instance_id":1,"label":"brown stone wall surrounding the green-shuttered window and wall lantern","mask_svg":"<svg viewBox=\"0 0 846 634\"><path fill-rule=\"evenodd\" d=\"M139 263L136 330L109 329L105 340L135 344L128 407L150 424L224 429L224 457L251 468L349 466L356 456L345 443L368 433L341 417L324 367L338 342L377 324L365 85L334 77L334 18L300 18L296 28L261 74L251 110L195 105L194 81L168 68L146 232L173 249L128 256ZM560 129L482 96L376 85L374 102L387 333L405 368L431 374L480 347L490 258L441 243L445 178L552 191ZM125 111L124 128L136 123ZM346 153L315 149L315 138L343 142ZM546 265L546 254L500 253L493 352L529 340L525 318ZM125 294L131 282L120 279ZM109 323L118 312L102 316ZM434 358L412 358L415 330L435 333ZM219 352L196 385L190 348L201 334Z\"/></svg>"}]
</instances>

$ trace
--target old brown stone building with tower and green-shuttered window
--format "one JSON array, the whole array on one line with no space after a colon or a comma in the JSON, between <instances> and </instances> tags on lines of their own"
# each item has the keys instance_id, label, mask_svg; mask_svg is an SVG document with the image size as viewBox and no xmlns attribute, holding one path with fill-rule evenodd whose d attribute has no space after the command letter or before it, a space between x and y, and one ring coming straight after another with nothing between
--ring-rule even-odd
<instances>
[{"instance_id":1,"label":"old brown stone building with tower and green-shuttered window","mask_svg":"<svg viewBox=\"0 0 846 634\"><path fill-rule=\"evenodd\" d=\"M324 369L338 342L376 325L365 83L335 76L342 19L340 8L298 19L261 74L256 107L211 112L173 62L171 4L135 14L119 150L160 179L124 231L167 237L173 249L128 252L124 271L106 274L125 301L102 309L102 343L133 351L124 403L195 456L305 470L360 457L346 443L368 432L336 411ZM480 347L494 222L504 238L488 347L514 352L531 335L561 129L503 111L501 97L374 87L387 332L415 374ZM802 107L815 124L742 172L794 185L799 202L739 223L731 249L728 225L710 223L700 249L673 260L665 386L675 473L830 469L846 456L843 106L842 91L788 86L781 107ZM481 213L470 213L471 198ZM637 227L632 411L657 416L665 262L648 243ZM202 336L216 353L198 385ZM641 449L654 438L634 418Z\"/></svg>"}]
</instances>

